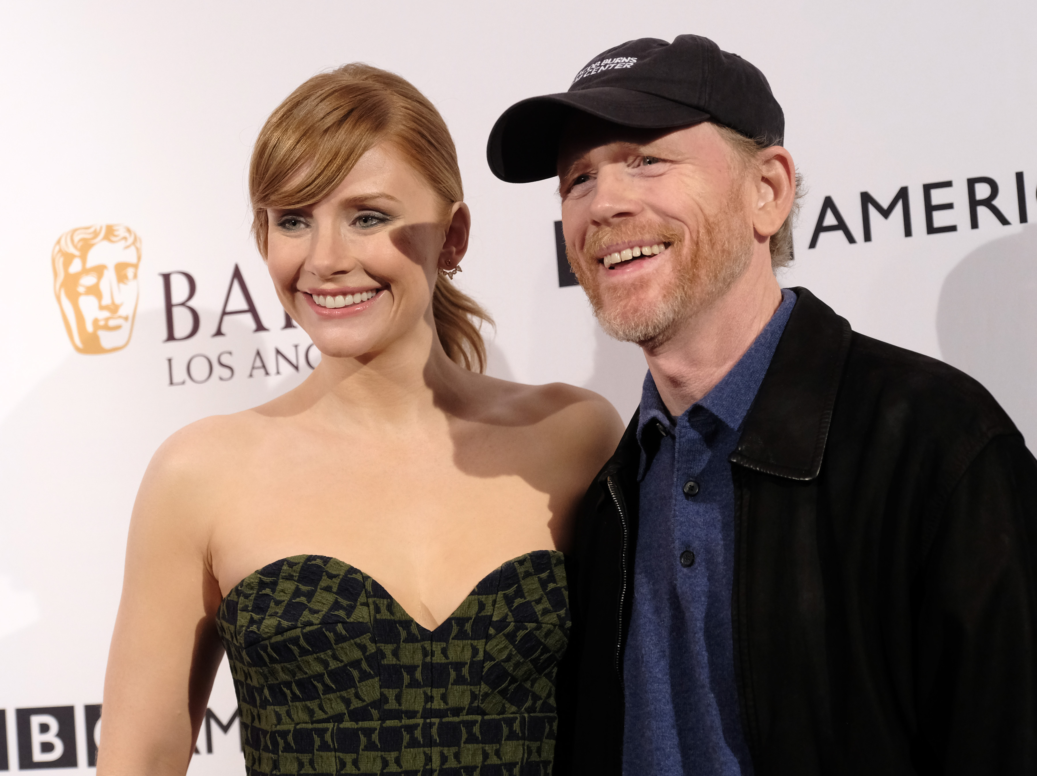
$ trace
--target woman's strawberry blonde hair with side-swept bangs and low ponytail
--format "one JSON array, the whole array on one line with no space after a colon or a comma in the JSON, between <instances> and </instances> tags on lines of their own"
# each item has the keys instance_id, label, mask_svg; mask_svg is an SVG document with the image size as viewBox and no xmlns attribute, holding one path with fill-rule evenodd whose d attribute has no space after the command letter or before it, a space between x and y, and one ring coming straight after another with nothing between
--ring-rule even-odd
<instances>
[{"instance_id":1,"label":"woman's strawberry blonde hair with side-swept bangs and low ponytail","mask_svg":"<svg viewBox=\"0 0 1037 776\"><path fill-rule=\"evenodd\" d=\"M328 196L371 147L393 145L442 197L444 216L465 198L457 151L443 116L411 83L368 64L345 64L296 89L263 124L252 151L252 233L267 257L267 209L302 207ZM442 275L432 315L443 350L483 371L486 347L477 324L493 324L475 300Z\"/></svg>"}]
</instances>

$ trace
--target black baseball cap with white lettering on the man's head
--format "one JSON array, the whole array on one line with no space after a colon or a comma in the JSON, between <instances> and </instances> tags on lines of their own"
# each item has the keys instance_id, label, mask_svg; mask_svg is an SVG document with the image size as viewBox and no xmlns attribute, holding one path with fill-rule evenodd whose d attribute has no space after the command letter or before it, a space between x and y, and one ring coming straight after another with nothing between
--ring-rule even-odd
<instances>
[{"instance_id":1,"label":"black baseball cap with white lettering on the man's head","mask_svg":"<svg viewBox=\"0 0 1037 776\"><path fill-rule=\"evenodd\" d=\"M489 133L486 159L502 181L525 184L558 174L558 140L573 111L623 127L667 129L716 121L781 145L785 114L767 79L700 35L673 43L642 37L604 51L569 90L515 103Z\"/></svg>"}]
</instances>

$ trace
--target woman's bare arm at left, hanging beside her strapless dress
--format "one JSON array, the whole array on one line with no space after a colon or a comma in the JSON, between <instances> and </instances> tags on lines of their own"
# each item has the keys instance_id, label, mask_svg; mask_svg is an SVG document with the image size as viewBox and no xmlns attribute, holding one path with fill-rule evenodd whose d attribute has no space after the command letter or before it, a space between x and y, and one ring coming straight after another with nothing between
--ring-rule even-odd
<instances>
[{"instance_id":1,"label":"woman's bare arm at left, hanging beside her strapless dress","mask_svg":"<svg viewBox=\"0 0 1037 776\"><path fill-rule=\"evenodd\" d=\"M223 648L196 433L156 453L134 504L105 676L99 776L183 776ZM204 447L202 446L202 449Z\"/></svg>"}]
</instances>

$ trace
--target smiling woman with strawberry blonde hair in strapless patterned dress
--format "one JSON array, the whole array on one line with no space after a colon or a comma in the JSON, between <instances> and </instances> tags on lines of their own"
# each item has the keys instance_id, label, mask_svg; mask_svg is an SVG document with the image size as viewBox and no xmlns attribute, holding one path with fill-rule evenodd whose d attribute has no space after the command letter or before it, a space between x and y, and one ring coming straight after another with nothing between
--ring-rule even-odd
<instances>
[{"instance_id":1,"label":"smiling woman with strawberry blonde hair in strapless patterned dress","mask_svg":"<svg viewBox=\"0 0 1037 776\"><path fill-rule=\"evenodd\" d=\"M99 774L184 774L226 652L248 774L548 774L564 553L622 433L601 397L482 375L453 141L349 64L270 116L259 252L323 354L173 435L134 507Z\"/></svg>"}]
</instances>

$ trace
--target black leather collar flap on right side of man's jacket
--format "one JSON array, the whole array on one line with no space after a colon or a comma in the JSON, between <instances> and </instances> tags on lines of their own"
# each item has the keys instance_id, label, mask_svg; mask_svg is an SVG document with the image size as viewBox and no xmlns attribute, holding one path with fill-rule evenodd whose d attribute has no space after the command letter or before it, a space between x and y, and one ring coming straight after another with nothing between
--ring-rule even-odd
<instances>
[{"instance_id":1,"label":"black leather collar flap on right side of man's jacket","mask_svg":"<svg viewBox=\"0 0 1037 776\"><path fill-rule=\"evenodd\" d=\"M792 290L795 307L729 460L809 480L821 469L851 331L809 290Z\"/></svg>"}]
</instances>

